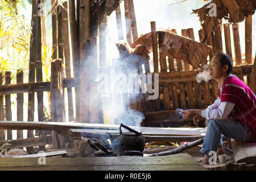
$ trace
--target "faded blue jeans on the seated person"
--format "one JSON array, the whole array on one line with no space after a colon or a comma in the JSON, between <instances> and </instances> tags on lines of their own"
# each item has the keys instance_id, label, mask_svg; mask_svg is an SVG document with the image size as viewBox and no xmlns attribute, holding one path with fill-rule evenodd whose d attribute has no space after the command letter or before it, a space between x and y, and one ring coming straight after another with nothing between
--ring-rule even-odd
<instances>
[{"instance_id":1,"label":"faded blue jeans on the seated person","mask_svg":"<svg viewBox=\"0 0 256 182\"><path fill-rule=\"evenodd\" d=\"M207 119L207 132L205 133L204 143L200 150L201 155L209 157L209 151L217 151L218 146L222 146L222 135L228 138L243 141L245 135L245 125L240 122L226 119ZM245 142L250 140L251 133L247 127Z\"/></svg>"}]
</instances>

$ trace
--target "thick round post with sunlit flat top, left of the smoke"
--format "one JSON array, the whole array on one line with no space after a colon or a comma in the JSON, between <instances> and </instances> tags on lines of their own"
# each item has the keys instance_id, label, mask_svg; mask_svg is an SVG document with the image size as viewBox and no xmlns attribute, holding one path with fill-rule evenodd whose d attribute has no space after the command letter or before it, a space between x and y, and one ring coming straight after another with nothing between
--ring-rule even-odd
<instances>
[{"instance_id":1,"label":"thick round post with sunlit flat top, left of the smoke","mask_svg":"<svg viewBox=\"0 0 256 182\"><path fill-rule=\"evenodd\" d=\"M55 59L51 62L51 119L53 122L64 122L63 100L63 60ZM52 131L53 148L63 148L63 137Z\"/></svg>"}]
</instances>

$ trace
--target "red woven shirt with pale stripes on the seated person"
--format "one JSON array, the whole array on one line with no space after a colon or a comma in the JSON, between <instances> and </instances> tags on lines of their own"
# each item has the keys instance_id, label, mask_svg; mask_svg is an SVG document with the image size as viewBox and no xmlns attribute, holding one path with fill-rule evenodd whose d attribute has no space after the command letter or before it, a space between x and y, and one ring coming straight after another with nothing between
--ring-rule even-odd
<instances>
[{"instance_id":1,"label":"red woven shirt with pale stripes on the seated person","mask_svg":"<svg viewBox=\"0 0 256 182\"><path fill-rule=\"evenodd\" d=\"M229 120L238 121L249 127L251 141L256 141L256 96L253 91L236 76L228 76L219 92L221 102L232 102L234 109Z\"/></svg>"}]
</instances>

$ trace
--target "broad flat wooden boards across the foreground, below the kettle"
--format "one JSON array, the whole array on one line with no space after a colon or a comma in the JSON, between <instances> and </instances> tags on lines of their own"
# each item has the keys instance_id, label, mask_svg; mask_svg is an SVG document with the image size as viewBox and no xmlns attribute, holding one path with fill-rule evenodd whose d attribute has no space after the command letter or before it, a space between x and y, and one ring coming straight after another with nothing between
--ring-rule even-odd
<instances>
[{"instance_id":1,"label":"broad flat wooden boards across the foreground, below the kettle","mask_svg":"<svg viewBox=\"0 0 256 182\"><path fill-rule=\"evenodd\" d=\"M187 153L169 156L114 156L96 158L0 158L0 170L22 171L206 171Z\"/></svg>"}]
</instances>

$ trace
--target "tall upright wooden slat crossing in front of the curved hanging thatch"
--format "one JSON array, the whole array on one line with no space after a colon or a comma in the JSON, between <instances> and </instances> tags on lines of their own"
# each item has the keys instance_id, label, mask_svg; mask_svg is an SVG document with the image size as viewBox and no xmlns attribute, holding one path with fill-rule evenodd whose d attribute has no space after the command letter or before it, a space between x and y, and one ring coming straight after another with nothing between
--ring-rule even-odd
<instances>
[{"instance_id":1,"label":"tall upright wooden slat crossing in front of the curved hanging thatch","mask_svg":"<svg viewBox=\"0 0 256 182\"><path fill-rule=\"evenodd\" d=\"M151 38L152 38L152 50L153 50L153 63L154 63L154 73L158 73L158 40L156 37L156 26L155 22L151 23Z\"/></svg>"}]
</instances>

